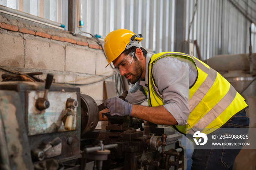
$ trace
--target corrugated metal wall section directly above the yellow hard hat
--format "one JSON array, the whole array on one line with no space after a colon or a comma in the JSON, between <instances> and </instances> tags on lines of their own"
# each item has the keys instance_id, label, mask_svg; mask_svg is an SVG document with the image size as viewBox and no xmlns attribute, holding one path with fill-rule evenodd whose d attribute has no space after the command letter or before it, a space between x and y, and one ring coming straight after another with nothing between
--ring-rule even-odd
<instances>
[{"instance_id":1,"label":"corrugated metal wall section directly above the yellow hard hat","mask_svg":"<svg viewBox=\"0 0 256 170\"><path fill-rule=\"evenodd\" d=\"M173 50L174 4L169 0L83 0L82 31L106 36L126 28L142 34L147 49Z\"/></svg>"}]
</instances>

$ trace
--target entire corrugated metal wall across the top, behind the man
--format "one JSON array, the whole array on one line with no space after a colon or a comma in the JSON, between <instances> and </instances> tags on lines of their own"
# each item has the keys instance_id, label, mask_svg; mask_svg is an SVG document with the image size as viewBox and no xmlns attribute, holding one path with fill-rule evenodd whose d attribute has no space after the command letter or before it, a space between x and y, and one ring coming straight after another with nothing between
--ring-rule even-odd
<instances>
[{"instance_id":1,"label":"entire corrugated metal wall across the top, behind the man","mask_svg":"<svg viewBox=\"0 0 256 170\"><path fill-rule=\"evenodd\" d=\"M84 27L81 30L104 38L113 30L126 28L143 35L142 45L146 49L156 53L174 51L176 2L176 0L82 0ZM192 21L196 2L197 10L189 32L189 23ZM185 4L185 28L177 29L185 29L184 40L190 39L192 42L197 40L202 59L219 54L249 53L251 22L234 4L256 22L255 0L187 0ZM0 5L63 23L67 29L68 0L0 0ZM76 32L79 32L78 28ZM252 46L255 52L254 24L252 24ZM194 54L197 55L195 49Z\"/></svg>"}]
</instances>

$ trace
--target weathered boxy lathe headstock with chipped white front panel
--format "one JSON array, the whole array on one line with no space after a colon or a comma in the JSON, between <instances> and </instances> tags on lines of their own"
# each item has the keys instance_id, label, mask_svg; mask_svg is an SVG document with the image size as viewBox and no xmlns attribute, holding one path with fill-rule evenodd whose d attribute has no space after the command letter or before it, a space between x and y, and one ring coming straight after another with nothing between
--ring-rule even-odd
<instances>
[{"instance_id":1,"label":"weathered boxy lathe headstock with chipped white front panel","mask_svg":"<svg viewBox=\"0 0 256 170\"><path fill-rule=\"evenodd\" d=\"M44 96L45 83L0 82L0 89L0 122L3 123L1 131L3 130L4 135L0 134L0 138L5 140L7 147L4 150L1 142L0 152L7 151L7 154L5 153L4 156L0 154L0 164L4 161L4 166L8 164L9 169L33 170L36 162L33 162L31 150L34 148L43 150L48 142L57 137L61 138L61 143L46 151L45 158L54 157L53 159L58 162L64 162L82 157L80 88L63 84L51 85L48 93L51 106L44 111L39 111L35 103L39 97ZM64 129L62 121L68 98L76 99L79 105L73 109L71 131ZM68 143L69 138L73 140ZM2 165L0 169L1 167Z\"/></svg>"}]
</instances>

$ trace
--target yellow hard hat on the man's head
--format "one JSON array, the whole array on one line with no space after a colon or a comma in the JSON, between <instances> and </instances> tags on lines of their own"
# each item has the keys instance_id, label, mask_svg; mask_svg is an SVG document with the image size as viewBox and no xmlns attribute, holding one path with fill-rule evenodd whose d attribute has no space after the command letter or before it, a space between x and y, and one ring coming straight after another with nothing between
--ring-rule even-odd
<instances>
[{"instance_id":1,"label":"yellow hard hat on the man's head","mask_svg":"<svg viewBox=\"0 0 256 170\"><path fill-rule=\"evenodd\" d=\"M106 36L104 44L105 54L108 58L108 65L123 53L125 49L129 49L132 46L136 46L138 48L142 47L140 44L142 39L141 34L136 35L132 31L126 29L119 29L110 32Z\"/></svg>"}]
</instances>

